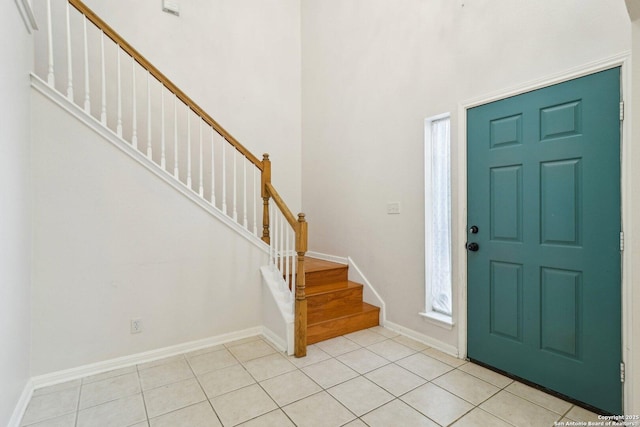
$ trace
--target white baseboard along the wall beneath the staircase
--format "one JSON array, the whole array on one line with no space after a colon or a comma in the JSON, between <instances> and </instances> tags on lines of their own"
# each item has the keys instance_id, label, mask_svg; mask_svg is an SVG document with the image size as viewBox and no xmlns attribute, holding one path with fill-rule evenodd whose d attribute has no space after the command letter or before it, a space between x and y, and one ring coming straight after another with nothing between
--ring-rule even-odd
<instances>
[{"instance_id":1,"label":"white baseboard along the wall beneath the staircase","mask_svg":"<svg viewBox=\"0 0 640 427\"><path fill-rule=\"evenodd\" d=\"M60 384L83 378L89 375L100 374L102 372L114 369L125 368L127 366L138 365L140 363L152 362L165 357L175 356L177 354L188 353L190 351L200 350L202 348L211 347L218 344L225 344L242 338L255 335L264 335L270 341L271 336L265 333L265 328L257 326L254 328L244 329L242 331L222 334L215 337L205 338L202 340L186 342L174 346L164 347L156 350L146 351L143 353L132 354L130 356L118 357L116 359L105 360L103 362L92 363L89 365L79 366L77 368L66 369L63 371L52 372L50 374L39 375L31 379L32 391L34 389L47 387L50 385ZM278 342L274 344L280 347ZM30 398L31 396L29 396ZM27 400L28 402L28 400Z\"/></svg>"}]
</instances>

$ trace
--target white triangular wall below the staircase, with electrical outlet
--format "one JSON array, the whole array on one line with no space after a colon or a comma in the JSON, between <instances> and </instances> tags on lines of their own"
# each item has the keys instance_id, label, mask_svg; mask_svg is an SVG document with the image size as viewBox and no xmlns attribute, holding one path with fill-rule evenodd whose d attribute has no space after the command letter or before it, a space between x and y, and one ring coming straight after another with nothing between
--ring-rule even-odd
<instances>
[{"instance_id":1,"label":"white triangular wall below the staircase, with electrical outlet","mask_svg":"<svg viewBox=\"0 0 640 427\"><path fill-rule=\"evenodd\" d=\"M33 376L262 324L264 249L35 90L32 132Z\"/></svg>"}]
</instances>

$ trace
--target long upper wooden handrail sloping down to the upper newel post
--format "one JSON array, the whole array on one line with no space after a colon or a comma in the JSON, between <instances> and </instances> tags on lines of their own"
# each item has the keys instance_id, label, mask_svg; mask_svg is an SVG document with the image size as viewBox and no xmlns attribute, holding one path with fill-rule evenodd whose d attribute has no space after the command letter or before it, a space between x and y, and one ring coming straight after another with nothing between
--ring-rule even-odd
<instances>
[{"instance_id":1,"label":"long upper wooden handrail sloping down to the upper newel post","mask_svg":"<svg viewBox=\"0 0 640 427\"><path fill-rule=\"evenodd\" d=\"M181 91L171 80L160 72L151 62L149 62L144 56L142 56L137 50L133 48L125 39L123 39L117 32L113 30L106 22L104 22L98 15L87 7L80 0L68 0L69 4L75 7L80 13L87 17L96 27L104 32L107 37L113 40L122 50L127 52L131 57L140 64L141 67L149 71L162 85L164 85L169 91L171 91L178 99L184 102L194 113L208 123L218 134L223 137L229 144L233 145L243 156L245 156L251 163L253 163L258 169L262 171L262 162L247 150L237 139L235 139L229 132L227 132L218 122L213 120L209 114L206 113L198 104L196 104L191 98L189 98L183 91Z\"/></svg>"}]
</instances>

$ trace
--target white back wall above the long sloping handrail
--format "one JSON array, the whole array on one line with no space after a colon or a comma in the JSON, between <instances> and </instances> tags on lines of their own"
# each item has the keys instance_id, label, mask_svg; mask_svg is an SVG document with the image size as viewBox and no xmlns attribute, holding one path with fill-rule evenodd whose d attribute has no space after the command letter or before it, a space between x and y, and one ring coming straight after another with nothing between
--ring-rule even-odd
<instances>
[{"instance_id":1,"label":"white back wall above the long sloping handrail","mask_svg":"<svg viewBox=\"0 0 640 427\"><path fill-rule=\"evenodd\" d=\"M273 181L301 207L298 0L88 0L129 41L253 154L268 152Z\"/></svg>"}]
</instances>

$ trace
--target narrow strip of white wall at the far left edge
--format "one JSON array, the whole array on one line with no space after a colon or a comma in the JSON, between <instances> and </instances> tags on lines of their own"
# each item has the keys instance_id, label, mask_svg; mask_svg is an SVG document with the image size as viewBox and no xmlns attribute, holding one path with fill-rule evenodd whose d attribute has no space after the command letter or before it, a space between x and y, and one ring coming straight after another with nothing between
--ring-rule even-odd
<instances>
[{"instance_id":1,"label":"narrow strip of white wall at the far left edge","mask_svg":"<svg viewBox=\"0 0 640 427\"><path fill-rule=\"evenodd\" d=\"M29 379L31 36L19 9L0 16L0 425Z\"/></svg>"}]
</instances>

